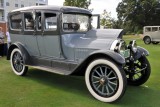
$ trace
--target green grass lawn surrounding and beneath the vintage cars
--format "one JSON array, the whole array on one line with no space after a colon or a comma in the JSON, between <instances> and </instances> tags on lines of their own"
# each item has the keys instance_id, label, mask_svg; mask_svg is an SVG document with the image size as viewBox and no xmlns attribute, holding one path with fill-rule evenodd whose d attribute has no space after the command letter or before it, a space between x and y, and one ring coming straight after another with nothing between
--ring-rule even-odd
<instances>
[{"instance_id":1,"label":"green grass lawn surrounding and beneath the vintage cars","mask_svg":"<svg viewBox=\"0 0 160 107\"><path fill-rule=\"evenodd\" d=\"M83 77L61 76L30 68L27 76L16 76L9 61L0 58L0 107L159 107L160 105L160 44L137 43L150 52L152 73L142 86L128 86L116 103L103 103L88 92Z\"/></svg>"}]
</instances>

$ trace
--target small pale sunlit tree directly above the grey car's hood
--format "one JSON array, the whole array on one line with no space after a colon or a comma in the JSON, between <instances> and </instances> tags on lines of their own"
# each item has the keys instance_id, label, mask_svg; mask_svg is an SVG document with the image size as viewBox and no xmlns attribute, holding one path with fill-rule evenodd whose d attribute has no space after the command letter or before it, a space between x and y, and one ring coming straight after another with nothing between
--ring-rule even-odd
<instances>
[{"instance_id":1,"label":"small pale sunlit tree directly above the grey car's hood","mask_svg":"<svg viewBox=\"0 0 160 107\"><path fill-rule=\"evenodd\" d=\"M106 10L104 10L101 14L100 24L105 28L112 28L111 13L108 13Z\"/></svg>"}]
</instances>

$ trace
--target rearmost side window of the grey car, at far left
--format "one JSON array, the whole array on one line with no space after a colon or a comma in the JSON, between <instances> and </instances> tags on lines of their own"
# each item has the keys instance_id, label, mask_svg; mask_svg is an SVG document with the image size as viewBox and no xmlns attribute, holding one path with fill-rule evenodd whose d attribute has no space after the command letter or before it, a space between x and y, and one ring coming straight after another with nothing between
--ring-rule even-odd
<instances>
[{"instance_id":1,"label":"rearmost side window of the grey car, at far left","mask_svg":"<svg viewBox=\"0 0 160 107\"><path fill-rule=\"evenodd\" d=\"M20 30L22 28L21 14L14 14L10 17L11 28Z\"/></svg>"}]
</instances>

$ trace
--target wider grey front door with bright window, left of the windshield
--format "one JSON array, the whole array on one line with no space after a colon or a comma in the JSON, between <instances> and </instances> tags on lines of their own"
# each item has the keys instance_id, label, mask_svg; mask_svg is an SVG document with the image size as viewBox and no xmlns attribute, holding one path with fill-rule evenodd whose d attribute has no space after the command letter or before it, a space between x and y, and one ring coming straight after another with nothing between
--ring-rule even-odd
<instances>
[{"instance_id":1,"label":"wider grey front door with bright window, left of the windshield","mask_svg":"<svg viewBox=\"0 0 160 107\"><path fill-rule=\"evenodd\" d=\"M41 57L59 58L60 40L57 27L57 13L52 11L41 12L41 29L37 41ZM39 35L40 34L40 35Z\"/></svg>"}]
</instances>

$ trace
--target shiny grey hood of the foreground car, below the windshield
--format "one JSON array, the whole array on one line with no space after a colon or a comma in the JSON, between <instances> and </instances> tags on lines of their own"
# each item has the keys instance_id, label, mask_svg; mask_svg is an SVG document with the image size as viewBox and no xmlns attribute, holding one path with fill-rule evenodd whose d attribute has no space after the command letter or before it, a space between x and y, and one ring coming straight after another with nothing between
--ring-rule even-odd
<instances>
[{"instance_id":1,"label":"shiny grey hood of the foreground car, below the windshield","mask_svg":"<svg viewBox=\"0 0 160 107\"><path fill-rule=\"evenodd\" d=\"M93 29L86 34L64 34L62 45L75 49L110 49L112 43L122 38L122 29Z\"/></svg>"}]
</instances>

